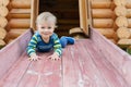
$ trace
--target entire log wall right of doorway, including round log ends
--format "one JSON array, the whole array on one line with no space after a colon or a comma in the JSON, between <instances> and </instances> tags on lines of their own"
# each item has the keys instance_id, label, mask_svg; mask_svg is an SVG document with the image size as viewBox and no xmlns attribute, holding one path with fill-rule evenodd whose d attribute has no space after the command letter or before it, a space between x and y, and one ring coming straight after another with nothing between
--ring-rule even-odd
<instances>
[{"instance_id":1,"label":"entire log wall right of doorway, including round log ends","mask_svg":"<svg viewBox=\"0 0 131 87\"><path fill-rule=\"evenodd\" d=\"M119 46L131 45L131 0L92 0L93 27Z\"/></svg>"}]
</instances>

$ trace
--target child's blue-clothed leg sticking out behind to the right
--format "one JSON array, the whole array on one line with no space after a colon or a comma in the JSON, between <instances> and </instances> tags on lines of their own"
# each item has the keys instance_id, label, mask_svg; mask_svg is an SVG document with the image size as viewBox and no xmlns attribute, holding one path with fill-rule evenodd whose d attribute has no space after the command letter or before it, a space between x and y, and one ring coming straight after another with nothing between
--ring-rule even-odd
<instances>
[{"instance_id":1,"label":"child's blue-clothed leg sticking out behind to the right","mask_svg":"<svg viewBox=\"0 0 131 87\"><path fill-rule=\"evenodd\" d=\"M69 44L69 45L73 45L74 44L74 38L72 37L61 37L60 38L60 44L62 46L62 48L66 48L66 46Z\"/></svg>"}]
</instances>

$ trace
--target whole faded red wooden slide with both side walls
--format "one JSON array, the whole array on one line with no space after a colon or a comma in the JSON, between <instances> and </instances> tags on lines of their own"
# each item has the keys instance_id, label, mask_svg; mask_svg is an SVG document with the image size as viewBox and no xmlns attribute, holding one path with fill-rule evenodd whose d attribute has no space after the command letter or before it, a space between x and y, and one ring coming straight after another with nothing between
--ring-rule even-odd
<instances>
[{"instance_id":1,"label":"whole faded red wooden slide with both side walls","mask_svg":"<svg viewBox=\"0 0 131 87\"><path fill-rule=\"evenodd\" d=\"M0 50L0 87L131 87L131 57L95 29L64 48L59 61L46 59L51 52L29 61L31 37L27 30Z\"/></svg>"}]
</instances>

